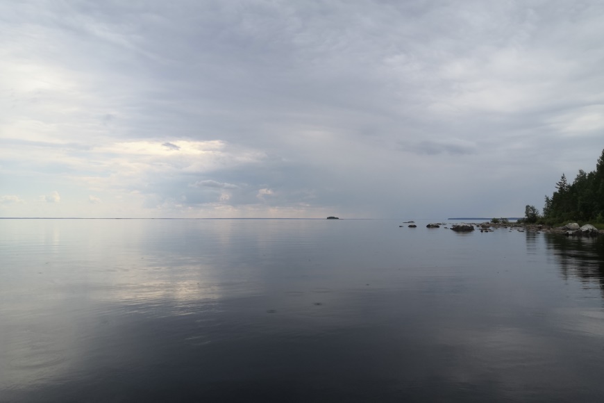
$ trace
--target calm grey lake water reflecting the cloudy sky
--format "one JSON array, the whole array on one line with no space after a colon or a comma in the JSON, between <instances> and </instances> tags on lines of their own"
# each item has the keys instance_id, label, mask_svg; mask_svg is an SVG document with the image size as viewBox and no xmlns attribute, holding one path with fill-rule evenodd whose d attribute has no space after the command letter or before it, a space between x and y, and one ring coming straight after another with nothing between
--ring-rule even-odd
<instances>
[{"instance_id":1,"label":"calm grey lake water reflecting the cloudy sky","mask_svg":"<svg viewBox=\"0 0 604 403\"><path fill-rule=\"evenodd\" d=\"M0 402L604 399L604 239L0 220Z\"/></svg>"}]
</instances>

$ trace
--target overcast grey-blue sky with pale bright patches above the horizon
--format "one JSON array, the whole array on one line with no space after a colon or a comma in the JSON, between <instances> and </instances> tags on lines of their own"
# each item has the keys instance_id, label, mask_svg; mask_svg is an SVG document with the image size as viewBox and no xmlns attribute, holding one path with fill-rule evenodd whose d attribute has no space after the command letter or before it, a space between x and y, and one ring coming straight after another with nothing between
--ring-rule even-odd
<instances>
[{"instance_id":1,"label":"overcast grey-blue sky with pale bright patches above the horizon","mask_svg":"<svg viewBox=\"0 0 604 403\"><path fill-rule=\"evenodd\" d=\"M517 217L604 149L604 2L0 2L0 217Z\"/></svg>"}]
</instances>

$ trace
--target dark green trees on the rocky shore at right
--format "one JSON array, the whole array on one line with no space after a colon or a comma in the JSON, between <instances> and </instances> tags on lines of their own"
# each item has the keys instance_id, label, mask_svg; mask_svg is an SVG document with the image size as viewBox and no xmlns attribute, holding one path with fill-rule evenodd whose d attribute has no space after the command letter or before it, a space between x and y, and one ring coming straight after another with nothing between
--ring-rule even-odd
<instances>
[{"instance_id":1,"label":"dark green trees on the rocky shore at right","mask_svg":"<svg viewBox=\"0 0 604 403\"><path fill-rule=\"evenodd\" d=\"M543 215L535 206L526 206L526 222L604 222L604 150L595 171L579 170L573 183L562 174L556 188L551 197L545 197Z\"/></svg>"}]
</instances>

